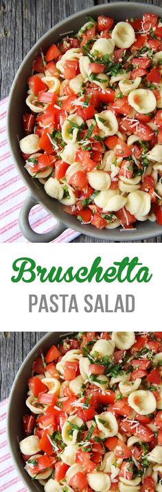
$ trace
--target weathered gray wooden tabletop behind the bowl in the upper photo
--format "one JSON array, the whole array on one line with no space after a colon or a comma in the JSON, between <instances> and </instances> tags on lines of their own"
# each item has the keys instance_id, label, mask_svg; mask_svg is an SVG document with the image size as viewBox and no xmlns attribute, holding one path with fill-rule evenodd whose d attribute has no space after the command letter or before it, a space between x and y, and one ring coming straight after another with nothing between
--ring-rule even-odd
<instances>
[{"instance_id":1,"label":"weathered gray wooden tabletop behind the bowl in the upper photo","mask_svg":"<svg viewBox=\"0 0 162 492\"><path fill-rule=\"evenodd\" d=\"M139 3L142 2L162 6L162 0L139 0ZM0 0L0 99L9 94L19 65L40 36L74 12L100 3L109 3L109 0ZM157 237L144 242L161 241L161 237ZM73 242L106 241L81 234Z\"/></svg>"}]
</instances>

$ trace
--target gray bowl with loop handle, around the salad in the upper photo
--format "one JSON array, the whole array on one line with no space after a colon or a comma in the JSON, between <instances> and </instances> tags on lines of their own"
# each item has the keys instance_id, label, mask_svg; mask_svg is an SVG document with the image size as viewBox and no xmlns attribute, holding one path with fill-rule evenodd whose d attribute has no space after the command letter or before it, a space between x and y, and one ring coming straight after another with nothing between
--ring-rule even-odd
<instances>
[{"instance_id":1,"label":"gray bowl with loop handle, around the salad in the upper photo","mask_svg":"<svg viewBox=\"0 0 162 492\"><path fill-rule=\"evenodd\" d=\"M14 82L12 84L12 89L10 92L10 101L8 107L8 139L10 143L10 149L12 152L12 157L16 168L21 174L21 178L25 182L28 188L29 194L27 199L23 203L21 213L19 216L19 226L23 235L30 242L49 242L60 235L67 227L84 233L85 235L90 235L97 237L98 239L107 239L107 241L139 241L141 239L148 239L148 237L156 237L162 234L162 227L155 224L154 222L138 222L137 230L132 231L131 229L122 230L119 229L96 229L94 226L89 224L81 225L80 222L73 215L68 215L62 210L62 205L53 198L50 198L43 188L43 185L38 183L38 180L32 180L31 176L27 173L24 168L24 161L19 150L18 136L19 139L23 137L22 128L22 116L25 107L25 94L27 91L27 78L30 76L32 71L32 62L36 56L37 51L40 47L43 50L47 50L47 47L51 43L57 43L60 39L61 33L73 30L78 32L79 28L85 23L86 15L90 14L95 19L100 14L105 14L113 17L116 21L124 21L127 17L140 17L144 12L154 12L161 16L161 8L155 5L146 5L142 3L131 3L131 2L117 2L108 3L107 5L97 5L95 7L82 10L73 16L68 17L65 21L60 22L55 27L52 27L40 40L34 45L34 47L27 54L21 67L16 73ZM45 209L54 215L57 220L57 225L45 234L35 233L29 222L29 213L35 204L41 204Z\"/></svg>"}]
</instances>

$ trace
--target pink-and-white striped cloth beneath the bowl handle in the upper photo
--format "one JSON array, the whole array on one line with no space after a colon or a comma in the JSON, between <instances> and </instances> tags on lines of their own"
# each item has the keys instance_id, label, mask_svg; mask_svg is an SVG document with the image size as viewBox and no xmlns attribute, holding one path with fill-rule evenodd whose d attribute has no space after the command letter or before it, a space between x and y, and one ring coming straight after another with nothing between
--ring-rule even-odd
<instances>
[{"instance_id":1,"label":"pink-and-white striped cloth beneath the bowl handle in the upper photo","mask_svg":"<svg viewBox=\"0 0 162 492\"><path fill-rule=\"evenodd\" d=\"M8 97L0 102L0 241L27 242L19 229L19 211L27 196L21 177L12 161L6 136L6 112ZM56 220L40 205L30 213L31 225L37 233L50 231ZM67 229L53 242L70 242L79 233Z\"/></svg>"}]
</instances>

